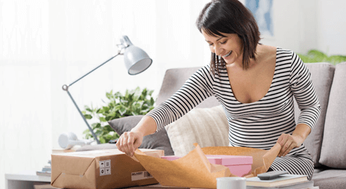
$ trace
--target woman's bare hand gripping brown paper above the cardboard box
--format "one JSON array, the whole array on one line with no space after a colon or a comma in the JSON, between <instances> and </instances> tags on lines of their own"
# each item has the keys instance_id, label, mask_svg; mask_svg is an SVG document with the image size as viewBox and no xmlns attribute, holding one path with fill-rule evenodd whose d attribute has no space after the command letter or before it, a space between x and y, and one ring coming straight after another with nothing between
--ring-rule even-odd
<instances>
[{"instance_id":1,"label":"woman's bare hand gripping brown paper above the cardboard box","mask_svg":"<svg viewBox=\"0 0 346 189\"><path fill-rule=\"evenodd\" d=\"M134 156L134 151L139 148L143 141L143 133L140 131L129 131L122 133L117 140L117 149L124 152L129 157Z\"/></svg>"}]
</instances>

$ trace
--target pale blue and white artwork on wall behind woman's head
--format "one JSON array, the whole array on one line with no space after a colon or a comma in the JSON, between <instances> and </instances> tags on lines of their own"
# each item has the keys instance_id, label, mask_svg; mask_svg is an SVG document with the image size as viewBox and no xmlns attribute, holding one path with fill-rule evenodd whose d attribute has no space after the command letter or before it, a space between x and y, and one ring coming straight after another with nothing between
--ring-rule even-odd
<instances>
[{"instance_id":1,"label":"pale blue and white artwork on wall behind woman's head","mask_svg":"<svg viewBox=\"0 0 346 189\"><path fill-rule=\"evenodd\" d=\"M261 35L274 36L272 16L273 0L245 0L245 6L255 16Z\"/></svg>"}]
</instances>

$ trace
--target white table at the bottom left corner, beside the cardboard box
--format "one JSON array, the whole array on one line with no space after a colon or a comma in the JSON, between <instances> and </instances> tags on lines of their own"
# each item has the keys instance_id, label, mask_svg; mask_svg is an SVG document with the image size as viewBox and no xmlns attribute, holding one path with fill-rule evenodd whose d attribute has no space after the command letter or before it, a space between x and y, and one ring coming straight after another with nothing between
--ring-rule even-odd
<instances>
[{"instance_id":1,"label":"white table at the bottom left corner, beside the cardboard box","mask_svg":"<svg viewBox=\"0 0 346 189\"><path fill-rule=\"evenodd\" d=\"M34 189L34 183L51 183L50 176L37 176L36 171L5 174L6 189Z\"/></svg>"}]
</instances>

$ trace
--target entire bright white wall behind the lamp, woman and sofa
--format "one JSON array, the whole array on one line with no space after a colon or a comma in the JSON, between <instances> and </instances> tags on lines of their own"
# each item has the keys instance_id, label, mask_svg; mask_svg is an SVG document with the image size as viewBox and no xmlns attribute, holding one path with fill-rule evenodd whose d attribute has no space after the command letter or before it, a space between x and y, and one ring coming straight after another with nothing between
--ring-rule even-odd
<instances>
[{"instance_id":1,"label":"entire bright white wall behind the lamp, woman and sofa","mask_svg":"<svg viewBox=\"0 0 346 189\"><path fill-rule=\"evenodd\" d=\"M61 89L117 52L127 34L153 65L130 76L122 56L70 87L79 107L102 105L105 92L160 90L165 70L202 66L210 52L195 21L206 0L0 0L0 188L4 174L39 170L58 136L87 129ZM274 37L263 44L297 53L346 54L345 1L274 0Z\"/></svg>"}]
</instances>

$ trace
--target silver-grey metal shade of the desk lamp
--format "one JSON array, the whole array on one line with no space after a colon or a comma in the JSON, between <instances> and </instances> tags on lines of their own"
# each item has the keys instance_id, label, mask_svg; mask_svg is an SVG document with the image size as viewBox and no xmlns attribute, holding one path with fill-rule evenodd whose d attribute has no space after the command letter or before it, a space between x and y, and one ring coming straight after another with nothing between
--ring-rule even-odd
<instances>
[{"instance_id":1,"label":"silver-grey metal shade of the desk lamp","mask_svg":"<svg viewBox=\"0 0 346 189\"><path fill-rule=\"evenodd\" d=\"M124 63L131 75L139 74L153 63L153 60L141 48L134 46L127 36L123 36L120 41L124 45Z\"/></svg>"}]
</instances>

